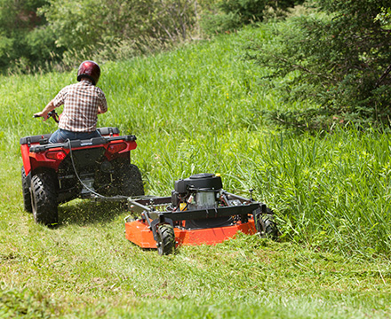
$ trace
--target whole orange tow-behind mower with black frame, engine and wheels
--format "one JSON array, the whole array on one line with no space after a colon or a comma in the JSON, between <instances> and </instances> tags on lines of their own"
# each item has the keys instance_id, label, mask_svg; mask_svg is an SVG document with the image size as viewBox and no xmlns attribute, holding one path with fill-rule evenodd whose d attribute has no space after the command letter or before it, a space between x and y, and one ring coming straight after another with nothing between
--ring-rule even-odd
<instances>
[{"instance_id":1,"label":"whole orange tow-behind mower with black frame, engine and wheels","mask_svg":"<svg viewBox=\"0 0 391 319\"><path fill-rule=\"evenodd\" d=\"M278 237L266 204L224 191L219 175L192 175L175 182L171 197L129 198L128 203L140 218L125 218L126 238L161 255L179 245L215 245L237 231Z\"/></svg>"}]
</instances>

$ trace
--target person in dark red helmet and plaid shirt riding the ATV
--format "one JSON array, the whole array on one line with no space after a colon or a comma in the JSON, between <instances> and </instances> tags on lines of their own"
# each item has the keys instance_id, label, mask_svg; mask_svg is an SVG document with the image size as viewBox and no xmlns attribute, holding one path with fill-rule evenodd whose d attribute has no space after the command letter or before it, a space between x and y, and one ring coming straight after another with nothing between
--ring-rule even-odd
<instances>
[{"instance_id":1,"label":"person in dark red helmet and plaid shirt riding the ATV","mask_svg":"<svg viewBox=\"0 0 391 319\"><path fill-rule=\"evenodd\" d=\"M96 129L98 114L108 111L108 103L103 91L96 87L100 79L100 66L93 61L84 61L77 71L77 81L61 89L56 97L34 114L48 119L48 113L64 105L60 116L59 129L49 139L50 143L62 143L67 139L89 139L100 137Z\"/></svg>"}]
</instances>

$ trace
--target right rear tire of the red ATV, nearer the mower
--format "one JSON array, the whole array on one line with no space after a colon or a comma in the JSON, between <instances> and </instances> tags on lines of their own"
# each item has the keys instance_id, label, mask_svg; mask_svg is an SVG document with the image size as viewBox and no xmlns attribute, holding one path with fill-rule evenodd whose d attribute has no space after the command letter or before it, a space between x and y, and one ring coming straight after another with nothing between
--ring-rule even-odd
<instances>
[{"instance_id":1,"label":"right rear tire of the red ATV, nearer the mower","mask_svg":"<svg viewBox=\"0 0 391 319\"><path fill-rule=\"evenodd\" d=\"M142 183L139 167L133 164L125 164L121 167L118 175L118 187L120 194L124 196L144 195L144 185Z\"/></svg>"}]
</instances>

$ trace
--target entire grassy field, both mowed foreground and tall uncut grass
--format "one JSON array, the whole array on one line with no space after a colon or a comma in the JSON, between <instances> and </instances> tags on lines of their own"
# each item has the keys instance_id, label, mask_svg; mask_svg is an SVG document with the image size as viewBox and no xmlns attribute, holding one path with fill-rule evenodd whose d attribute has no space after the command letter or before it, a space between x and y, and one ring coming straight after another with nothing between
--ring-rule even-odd
<instances>
[{"instance_id":1,"label":"entire grassy field, both mowed foreground and tall uncut grass","mask_svg":"<svg viewBox=\"0 0 391 319\"><path fill-rule=\"evenodd\" d=\"M102 66L100 126L138 136L146 191L170 195L188 175L220 173L227 191L274 209L279 242L238 234L158 256L124 237L124 207L76 200L60 227L23 212L21 136L69 74L0 78L0 317L390 317L389 135L297 134L267 125L281 105L241 59L246 30L155 57ZM306 105L294 105L306 107Z\"/></svg>"}]
</instances>

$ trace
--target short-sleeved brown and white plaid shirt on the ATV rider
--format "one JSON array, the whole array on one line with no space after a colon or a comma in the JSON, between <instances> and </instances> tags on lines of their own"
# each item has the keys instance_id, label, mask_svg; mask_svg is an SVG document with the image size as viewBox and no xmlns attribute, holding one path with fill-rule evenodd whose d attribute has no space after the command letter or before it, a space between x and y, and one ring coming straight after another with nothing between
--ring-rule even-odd
<instances>
[{"instance_id":1,"label":"short-sleeved brown and white plaid shirt on the ATV rider","mask_svg":"<svg viewBox=\"0 0 391 319\"><path fill-rule=\"evenodd\" d=\"M59 128L71 132L93 132L98 121L98 107L108 111L106 97L100 88L91 82L81 81L61 89L53 99L54 107L64 105Z\"/></svg>"}]
</instances>

